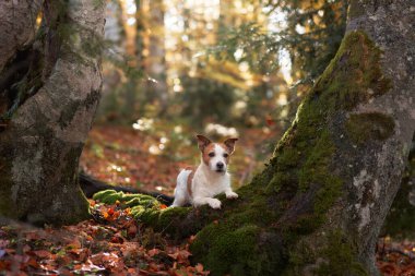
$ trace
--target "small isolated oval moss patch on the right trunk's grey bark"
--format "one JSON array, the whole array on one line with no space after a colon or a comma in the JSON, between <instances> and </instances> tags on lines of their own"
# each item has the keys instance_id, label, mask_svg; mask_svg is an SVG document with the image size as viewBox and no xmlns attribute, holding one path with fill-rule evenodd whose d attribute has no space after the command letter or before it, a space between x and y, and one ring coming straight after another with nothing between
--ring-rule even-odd
<instances>
[{"instance_id":1,"label":"small isolated oval moss patch on the right trunk's grey bark","mask_svg":"<svg viewBox=\"0 0 415 276\"><path fill-rule=\"evenodd\" d=\"M351 115L346 121L347 135L356 144L383 141L393 134L394 127L392 117L379 112Z\"/></svg>"}]
</instances>

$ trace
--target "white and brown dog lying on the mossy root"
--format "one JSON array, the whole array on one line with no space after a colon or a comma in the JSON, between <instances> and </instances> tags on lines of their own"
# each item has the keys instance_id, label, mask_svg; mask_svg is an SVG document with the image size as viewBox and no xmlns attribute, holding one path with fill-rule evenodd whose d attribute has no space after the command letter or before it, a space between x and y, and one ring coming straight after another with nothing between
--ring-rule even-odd
<instances>
[{"instance_id":1,"label":"white and brown dog lying on the mossy root","mask_svg":"<svg viewBox=\"0 0 415 276\"><path fill-rule=\"evenodd\" d=\"M194 170L186 168L177 177L175 201L171 207L209 204L212 208L221 208L221 201L213 199L225 193L227 199L237 199L232 191L230 175L227 172L229 157L235 151L238 139L227 139L223 143L212 143L203 135L197 135L202 161Z\"/></svg>"}]
</instances>

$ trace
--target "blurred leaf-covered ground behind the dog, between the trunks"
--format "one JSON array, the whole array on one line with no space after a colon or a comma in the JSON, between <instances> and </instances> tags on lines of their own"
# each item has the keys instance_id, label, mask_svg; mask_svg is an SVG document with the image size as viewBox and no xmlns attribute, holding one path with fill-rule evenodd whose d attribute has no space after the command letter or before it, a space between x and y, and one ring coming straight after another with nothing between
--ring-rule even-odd
<instances>
[{"instance_id":1,"label":"blurred leaf-covered ground behind the dog, between the trunks","mask_svg":"<svg viewBox=\"0 0 415 276\"><path fill-rule=\"evenodd\" d=\"M140 132L127 127L96 127L81 157L86 173L105 182L173 194L181 168L200 164L194 135L161 131ZM260 170L275 143L269 129L240 133L230 160L233 185L247 183Z\"/></svg>"}]
</instances>

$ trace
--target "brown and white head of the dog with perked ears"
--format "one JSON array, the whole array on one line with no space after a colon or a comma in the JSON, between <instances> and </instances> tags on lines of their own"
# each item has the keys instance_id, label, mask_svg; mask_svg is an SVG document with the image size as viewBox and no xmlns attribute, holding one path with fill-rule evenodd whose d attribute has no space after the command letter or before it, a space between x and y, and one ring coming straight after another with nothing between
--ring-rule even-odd
<instances>
[{"instance_id":1,"label":"brown and white head of the dog with perked ears","mask_svg":"<svg viewBox=\"0 0 415 276\"><path fill-rule=\"evenodd\" d=\"M227 170L230 155L238 139L227 139L223 143L213 143L203 135L197 135L203 163L213 171L224 173Z\"/></svg>"}]
</instances>

